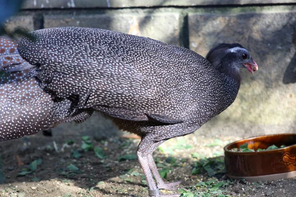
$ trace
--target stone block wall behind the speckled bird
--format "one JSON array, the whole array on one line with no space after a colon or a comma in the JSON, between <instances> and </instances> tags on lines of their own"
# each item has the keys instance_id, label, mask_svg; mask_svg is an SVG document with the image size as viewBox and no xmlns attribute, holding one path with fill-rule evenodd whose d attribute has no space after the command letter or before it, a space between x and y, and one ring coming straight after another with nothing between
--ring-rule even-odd
<instances>
[{"instance_id":1,"label":"stone block wall behind the speckled bird","mask_svg":"<svg viewBox=\"0 0 296 197\"><path fill-rule=\"evenodd\" d=\"M29 31L109 29L184 46L202 56L217 43L238 42L250 51L259 71L250 75L242 70L235 102L195 134L296 131L296 0L27 0L7 22L11 29L16 26ZM94 116L56 130L101 136L116 131L110 124Z\"/></svg>"}]
</instances>

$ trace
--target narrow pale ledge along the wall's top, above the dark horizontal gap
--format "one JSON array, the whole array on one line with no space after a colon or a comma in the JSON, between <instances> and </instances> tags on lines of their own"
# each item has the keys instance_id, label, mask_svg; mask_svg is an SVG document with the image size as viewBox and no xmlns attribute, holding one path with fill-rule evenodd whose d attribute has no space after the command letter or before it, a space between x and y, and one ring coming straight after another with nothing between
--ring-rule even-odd
<instances>
[{"instance_id":1,"label":"narrow pale ledge along the wall's top, above the dark horizontal gap","mask_svg":"<svg viewBox=\"0 0 296 197\"><path fill-rule=\"evenodd\" d=\"M296 0L26 0L23 9L284 4Z\"/></svg>"}]
</instances>

